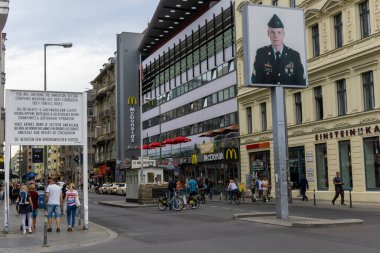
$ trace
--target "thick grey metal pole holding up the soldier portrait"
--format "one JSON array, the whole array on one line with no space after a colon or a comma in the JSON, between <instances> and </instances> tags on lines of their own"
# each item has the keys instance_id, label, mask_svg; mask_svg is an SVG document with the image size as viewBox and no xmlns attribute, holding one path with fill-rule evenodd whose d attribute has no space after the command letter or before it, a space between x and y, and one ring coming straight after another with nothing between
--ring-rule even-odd
<instances>
[{"instance_id":1,"label":"thick grey metal pole holding up the soldier portrait","mask_svg":"<svg viewBox=\"0 0 380 253\"><path fill-rule=\"evenodd\" d=\"M272 88L274 173L276 181L276 217L289 217L287 184L287 128L284 87Z\"/></svg>"}]
</instances>

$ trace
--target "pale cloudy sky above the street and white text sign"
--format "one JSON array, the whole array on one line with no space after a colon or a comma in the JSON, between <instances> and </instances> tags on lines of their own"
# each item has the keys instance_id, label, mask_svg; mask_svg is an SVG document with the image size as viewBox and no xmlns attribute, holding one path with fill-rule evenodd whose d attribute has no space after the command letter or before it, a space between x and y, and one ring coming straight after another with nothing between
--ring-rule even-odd
<instances>
[{"instance_id":1,"label":"pale cloudy sky above the street and white text sign","mask_svg":"<svg viewBox=\"0 0 380 253\"><path fill-rule=\"evenodd\" d=\"M11 0L3 32L6 89L84 91L116 51L116 34L142 32L159 0Z\"/></svg>"}]
</instances>

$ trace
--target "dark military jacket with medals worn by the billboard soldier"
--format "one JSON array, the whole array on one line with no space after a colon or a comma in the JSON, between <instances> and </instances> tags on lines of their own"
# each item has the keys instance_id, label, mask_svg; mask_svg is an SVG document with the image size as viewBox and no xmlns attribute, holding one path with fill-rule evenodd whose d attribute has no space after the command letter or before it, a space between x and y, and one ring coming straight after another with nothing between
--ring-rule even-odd
<instances>
[{"instance_id":1,"label":"dark military jacket with medals worn by the billboard soldier","mask_svg":"<svg viewBox=\"0 0 380 253\"><path fill-rule=\"evenodd\" d=\"M257 50L252 83L305 85L304 69L297 51L284 45L280 62L275 58L272 45Z\"/></svg>"}]
</instances>

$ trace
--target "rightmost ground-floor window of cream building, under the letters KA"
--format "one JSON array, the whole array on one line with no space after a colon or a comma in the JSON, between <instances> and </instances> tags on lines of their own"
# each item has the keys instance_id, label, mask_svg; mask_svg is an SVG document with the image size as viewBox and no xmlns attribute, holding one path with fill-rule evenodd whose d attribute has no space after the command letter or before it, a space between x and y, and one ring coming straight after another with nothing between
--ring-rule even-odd
<instances>
[{"instance_id":1,"label":"rightmost ground-floor window of cream building, under the letters KA","mask_svg":"<svg viewBox=\"0 0 380 253\"><path fill-rule=\"evenodd\" d=\"M380 141L379 137L363 139L367 190L380 190Z\"/></svg>"}]
</instances>

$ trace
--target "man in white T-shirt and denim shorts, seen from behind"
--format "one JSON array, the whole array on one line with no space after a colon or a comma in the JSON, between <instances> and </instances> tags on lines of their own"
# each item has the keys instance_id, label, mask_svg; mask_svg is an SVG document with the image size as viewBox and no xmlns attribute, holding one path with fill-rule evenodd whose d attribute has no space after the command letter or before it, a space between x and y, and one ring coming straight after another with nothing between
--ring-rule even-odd
<instances>
[{"instance_id":1,"label":"man in white T-shirt and denim shorts, seen from behind","mask_svg":"<svg viewBox=\"0 0 380 253\"><path fill-rule=\"evenodd\" d=\"M57 232L60 232L60 218L61 218L61 206L62 206L62 189L57 185L55 178L50 179L50 184L46 189L46 199L47 199L47 218L48 218L48 232L52 232L52 215L54 213L55 222L57 224Z\"/></svg>"}]
</instances>

